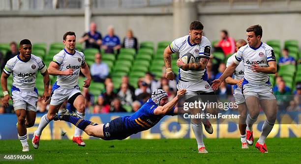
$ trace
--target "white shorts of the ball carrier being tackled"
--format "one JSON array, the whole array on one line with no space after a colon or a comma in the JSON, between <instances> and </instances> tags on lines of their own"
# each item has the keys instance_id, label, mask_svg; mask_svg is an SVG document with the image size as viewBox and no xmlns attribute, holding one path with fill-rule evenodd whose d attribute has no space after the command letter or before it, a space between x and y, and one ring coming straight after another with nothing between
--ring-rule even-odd
<instances>
[{"instance_id":1,"label":"white shorts of the ball carrier being tackled","mask_svg":"<svg viewBox=\"0 0 301 164\"><path fill-rule=\"evenodd\" d=\"M199 95L202 92L213 92L208 82L200 80L199 82L178 81L177 88L186 89L186 95Z\"/></svg>"}]
</instances>

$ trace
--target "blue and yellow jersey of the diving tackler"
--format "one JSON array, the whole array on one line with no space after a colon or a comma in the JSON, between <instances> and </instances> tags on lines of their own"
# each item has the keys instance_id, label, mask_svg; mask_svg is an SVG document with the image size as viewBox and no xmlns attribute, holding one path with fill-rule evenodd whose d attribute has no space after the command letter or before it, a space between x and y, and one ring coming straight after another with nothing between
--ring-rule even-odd
<instances>
[{"instance_id":1,"label":"blue and yellow jersey of the diving tackler","mask_svg":"<svg viewBox=\"0 0 301 164\"><path fill-rule=\"evenodd\" d=\"M126 129L136 134L141 131L145 131L155 126L165 115L155 115L154 109L158 106L149 99L139 110L137 110L132 116L124 116L122 122ZM175 108L174 108L175 109ZM166 115L174 115L174 109L172 109Z\"/></svg>"}]
</instances>

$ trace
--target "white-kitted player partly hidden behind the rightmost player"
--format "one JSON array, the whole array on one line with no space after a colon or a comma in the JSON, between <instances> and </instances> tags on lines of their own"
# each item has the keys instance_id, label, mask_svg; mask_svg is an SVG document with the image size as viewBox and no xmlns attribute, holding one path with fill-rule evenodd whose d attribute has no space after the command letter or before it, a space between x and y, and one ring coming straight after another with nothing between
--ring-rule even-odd
<instances>
[{"instance_id":1,"label":"white-kitted player partly hidden behind the rightmost player","mask_svg":"<svg viewBox=\"0 0 301 164\"><path fill-rule=\"evenodd\" d=\"M238 51L242 46L246 45L245 40L240 39L236 42L236 51ZM227 67L232 63L233 59L235 58L235 54L230 56L227 60ZM245 105L244 97L243 94L241 93L241 83L243 81L243 76L244 76L244 66L243 62L241 62L235 69L234 71L234 79L232 76L229 76L226 78L226 82L228 84L233 85L233 96L235 99L235 102L238 104L238 111L240 114L239 118L239 130L241 133L241 148L242 149L247 149L249 148L247 143L246 143L246 137L245 137L245 120L246 120L246 113L247 113L247 108Z\"/></svg>"}]
</instances>

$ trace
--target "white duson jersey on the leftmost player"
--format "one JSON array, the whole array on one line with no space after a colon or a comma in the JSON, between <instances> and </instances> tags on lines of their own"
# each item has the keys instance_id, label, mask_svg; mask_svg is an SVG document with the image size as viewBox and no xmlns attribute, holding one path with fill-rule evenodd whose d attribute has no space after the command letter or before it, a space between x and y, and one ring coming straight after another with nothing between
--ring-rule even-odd
<instances>
[{"instance_id":1,"label":"white duson jersey on the leftmost player","mask_svg":"<svg viewBox=\"0 0 301 164\"><path fill-rule=\"evenodd\" d=\"M47 68L42 59L32 54L30 60L26 62L23 61L19 55L14 56L7 61L3 69L5 74L12 74L12 90L22 92L33 91L37 72L40 71L40 73L44 73L46 70Z\"/></svg>"}]
</instances>

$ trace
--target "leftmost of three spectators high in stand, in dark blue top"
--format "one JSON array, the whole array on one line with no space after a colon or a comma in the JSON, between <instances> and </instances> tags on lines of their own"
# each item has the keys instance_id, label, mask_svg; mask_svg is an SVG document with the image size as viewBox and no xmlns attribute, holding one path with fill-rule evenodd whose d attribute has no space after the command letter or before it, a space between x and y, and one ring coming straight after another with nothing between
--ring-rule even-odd
<instances>
[{"instance_id":1,"label":"leftmost of three spectators high in stand, in dark blue top","mask_svg":"<svg viewBox=\"0 0 301 164\"><path fill-rule=\"evenodd\" d=\"M85 33L83 37L79 40L80 43L85 42L86 49L95 48L97 50L100 50L102 37L101 37L101 33L98 32L96 29L97 29L96 24L94 22L91 22L90 31Z\"/></svg>"}]
</instances>

